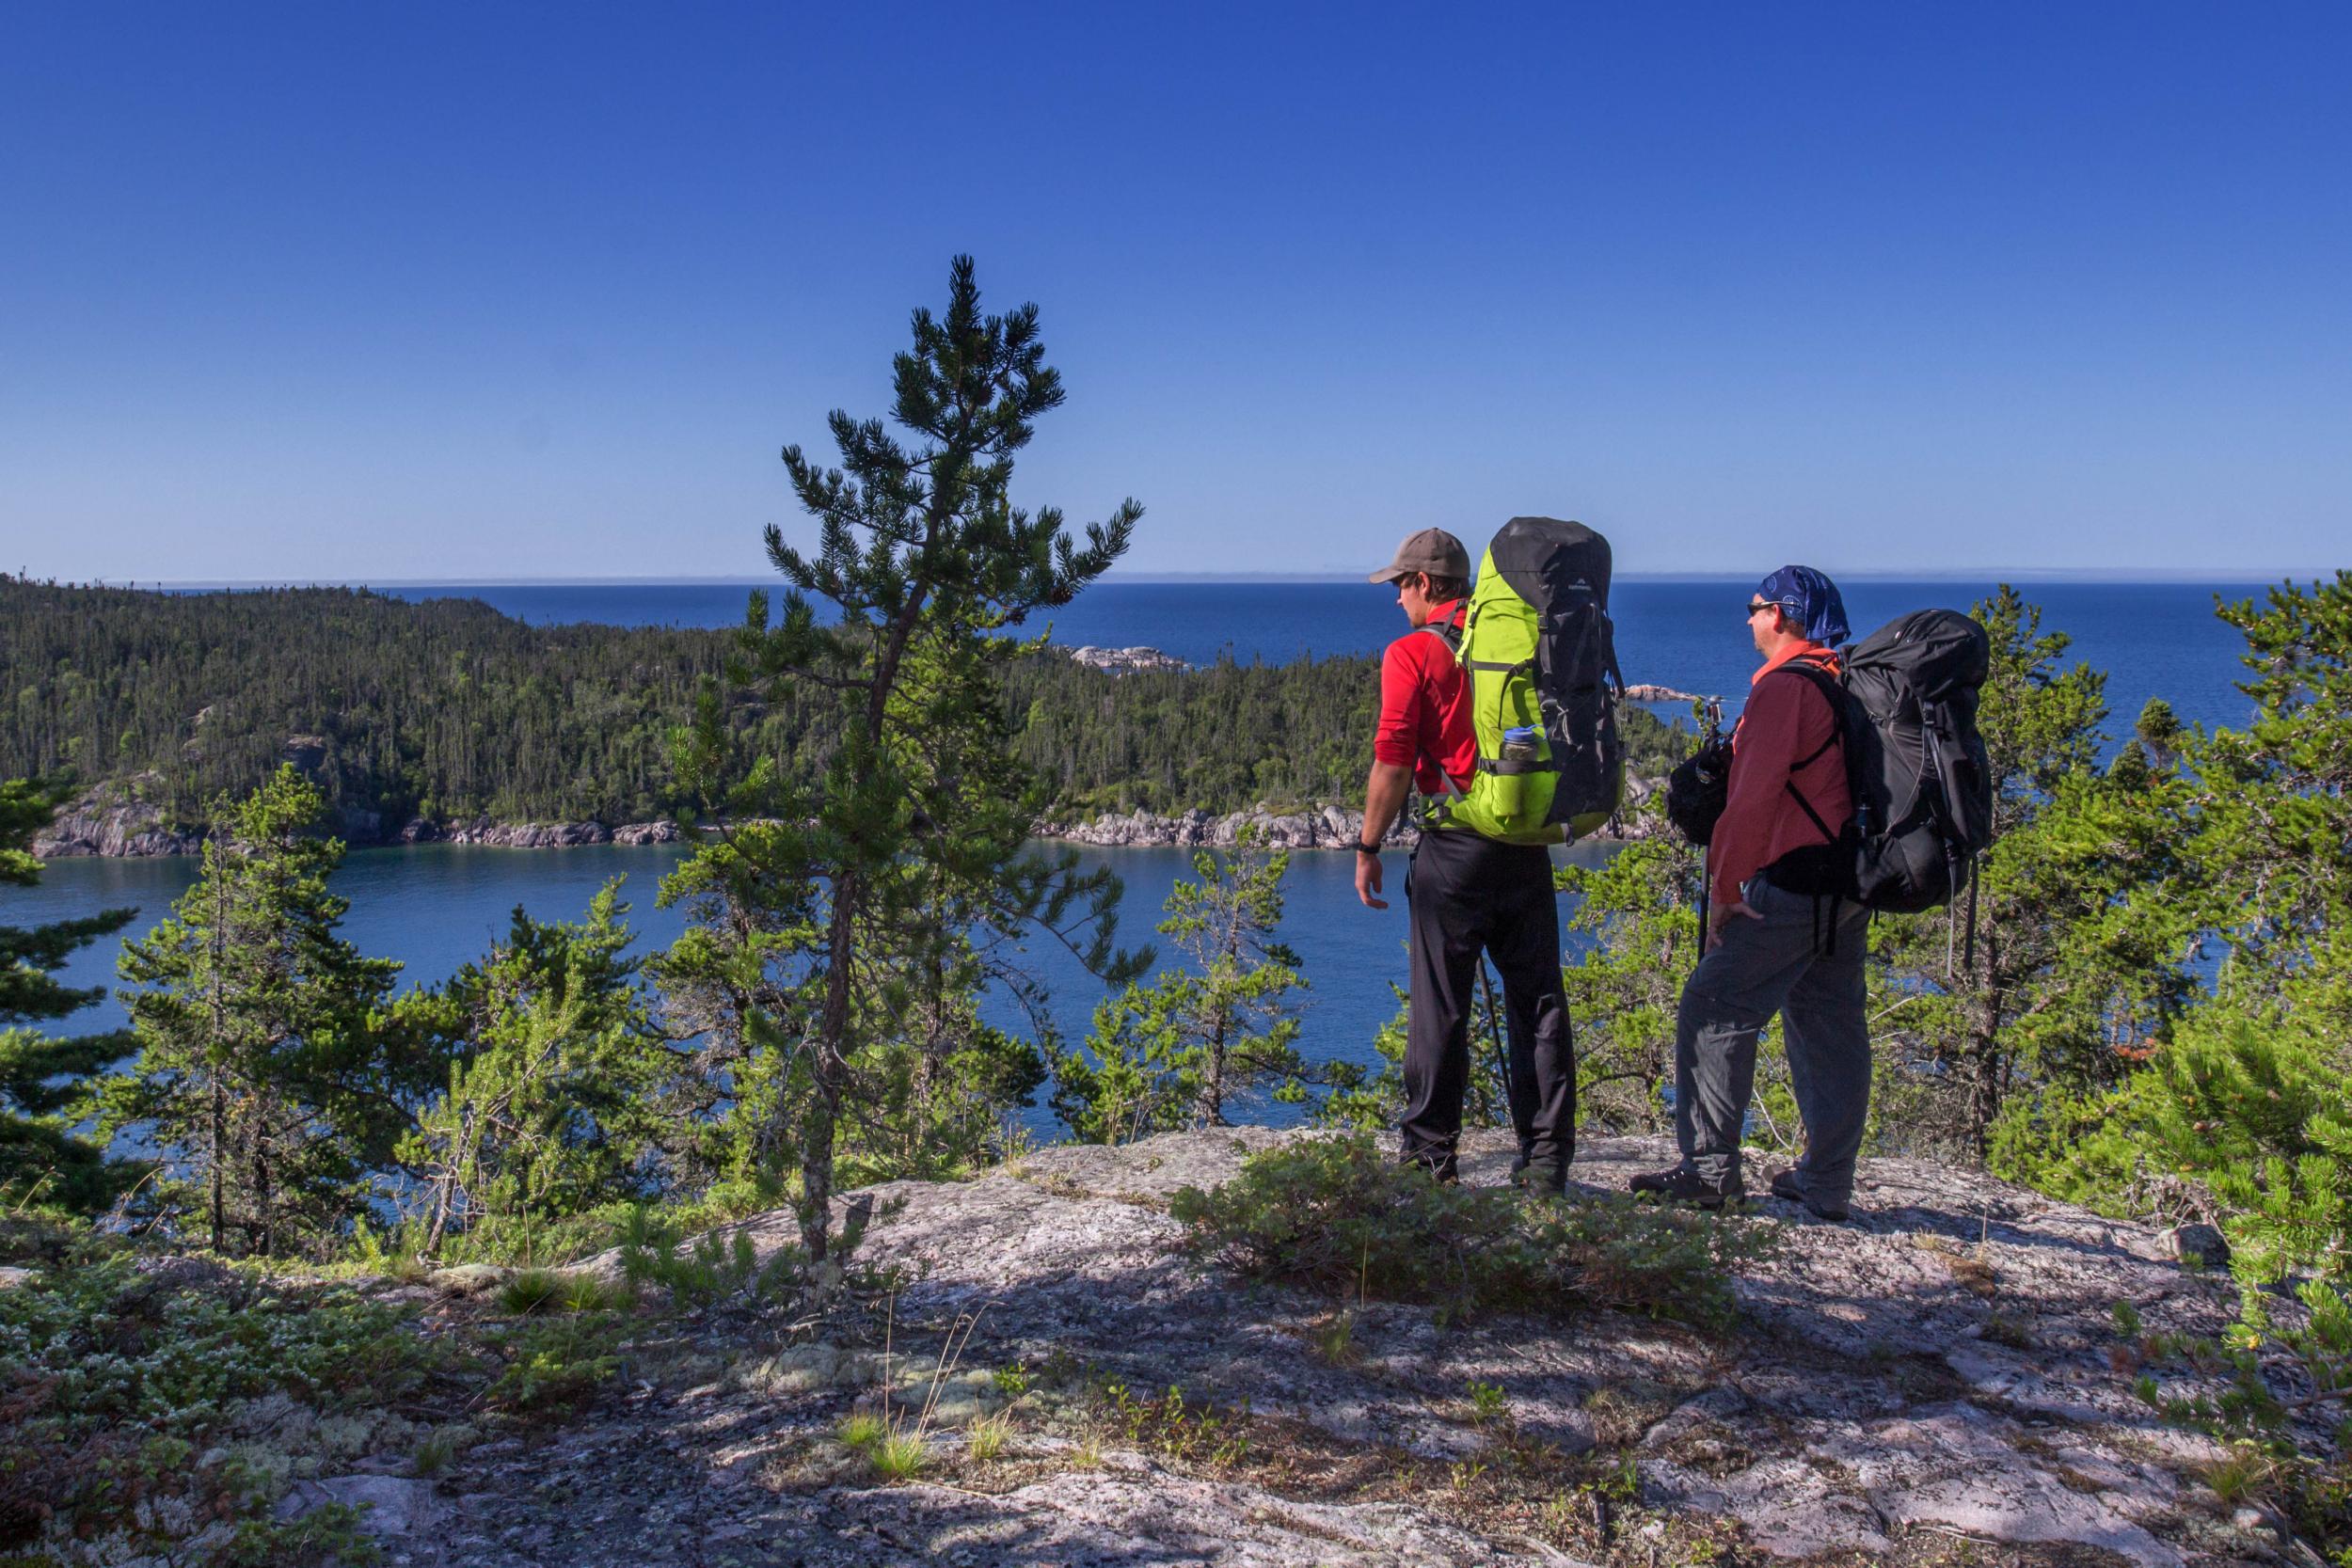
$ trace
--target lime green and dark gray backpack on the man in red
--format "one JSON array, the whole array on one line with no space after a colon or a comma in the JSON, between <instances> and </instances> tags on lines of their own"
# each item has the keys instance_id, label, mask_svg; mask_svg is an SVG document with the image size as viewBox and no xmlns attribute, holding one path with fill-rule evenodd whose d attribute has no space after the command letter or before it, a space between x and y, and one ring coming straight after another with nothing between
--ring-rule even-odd
<instances>
[{"instance_id":1,"label":"lime green and dark gray backpack on the man in red","mask_svg":"<svg viewBox=\"0 0 2352 1568\"><path fill-rule=\"evenodd\" d=\"M1425 630L1454 646L1454 628ZM1456 658L1470 679L1477 776L1468 790L1446 780L1435 825L1559 844L1609 823L1625 790L1609 541L1581 522L1505 522L1479 559Z\"/></svg>"}]
</instances>

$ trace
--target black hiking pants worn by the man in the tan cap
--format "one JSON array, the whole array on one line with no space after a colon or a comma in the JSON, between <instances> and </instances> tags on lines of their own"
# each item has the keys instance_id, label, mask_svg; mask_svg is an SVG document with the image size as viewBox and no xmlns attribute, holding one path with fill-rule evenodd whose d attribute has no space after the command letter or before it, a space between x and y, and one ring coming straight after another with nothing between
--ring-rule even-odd
<instances>
[{"instance_id":1,"label":"black hiking pants worn by the man in the tan cap","mask_svg":"<svg viewBox=\"0 0 2352 1568\"><path fill-rule=\"evenodd\" d=\"M1404 1037L1404 1159L1454 1175L1470 1088L1470 1006L1479 954L1503 976L1505 1081L1519 1152L1545 1182L1576 1157L1576 1048L1559 985L1559 898L1541 844L1496 844L1451 827L1423 832L1404 875L1411 1016Z\"/></svg>"}]
</instances>

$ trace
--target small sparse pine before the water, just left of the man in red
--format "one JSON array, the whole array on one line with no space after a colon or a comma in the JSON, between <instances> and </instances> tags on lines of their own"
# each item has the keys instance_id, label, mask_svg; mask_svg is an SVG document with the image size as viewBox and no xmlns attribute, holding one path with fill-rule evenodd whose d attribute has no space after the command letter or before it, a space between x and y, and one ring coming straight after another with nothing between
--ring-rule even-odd
<instances>
[{"instance_id":1,"label":"small sparse pine before the water, just left of the man in red","mask_svg":"<svg viewBox=\"0 0 2352 1568\"><path fill-rule=\"evenodd\" d=\"M1178 1126L1225 1126L1256 1091L1303 1098L1298 954L1275 940L1289 851L1202 849L1160 933L1192 959L1134 983L1094 1013L1084 1051L1056 1051L1054 1110L1087 1143L1131 1143Z\"/></svg>"}]
</instances>

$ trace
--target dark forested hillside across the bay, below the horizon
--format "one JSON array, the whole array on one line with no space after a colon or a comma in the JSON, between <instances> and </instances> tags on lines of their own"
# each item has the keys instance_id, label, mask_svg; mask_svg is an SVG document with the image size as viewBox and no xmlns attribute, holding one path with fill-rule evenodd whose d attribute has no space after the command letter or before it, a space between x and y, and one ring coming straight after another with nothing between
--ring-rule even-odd
<instances>
[{"instance_id":1,"label":"dark forested hillside across the bay, below the horizon","mask_svg":"<svg viewBox=\"0 0 2352 1568\"><path fill-rule=\"evenodd\" d=\"M534 628L473 599L350 588L162 595L0 576L0 778L143 778L193 823L289 755L329 806L430 820L626 823L691 806L668 736L731 632ZM1065 804L1237 811L1362 795L1374 661L1108 675L1014 665L1018 752ZM736 712L743 757L814 769L800 696ZM1637 766L1668 733L1628 710Z\"/></svg>"}]
</instances>

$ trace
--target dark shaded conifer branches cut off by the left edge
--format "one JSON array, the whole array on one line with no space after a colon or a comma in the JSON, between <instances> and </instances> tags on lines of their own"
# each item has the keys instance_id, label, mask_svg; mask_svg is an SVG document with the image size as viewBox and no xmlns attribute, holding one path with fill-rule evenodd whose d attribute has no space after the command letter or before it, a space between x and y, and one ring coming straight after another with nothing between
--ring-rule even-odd
<instances>
[{"instance_id":1,"label":"dark shaded conifer branches cut off by the left edge","mask_svg":"<svg viewBox=\"0 0 2352 1568\"><path fill-rule=\"evenodd\" d=\"M26 778L0 783L0 886L33 886L33 835L56 816L59 792ZM68 1018L103 997L61 985L56 971L78 950L113 936L134 910L103 910L45 926L0 926L0 1194L12 1204L103 1208L136 1180L132 1161L108 1161L99 1143L73 1133L73 1110L106 1063L129 1053L122 1032L52 1037L28 1025Z\"/></svg>"}]
</instances>

